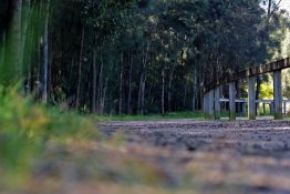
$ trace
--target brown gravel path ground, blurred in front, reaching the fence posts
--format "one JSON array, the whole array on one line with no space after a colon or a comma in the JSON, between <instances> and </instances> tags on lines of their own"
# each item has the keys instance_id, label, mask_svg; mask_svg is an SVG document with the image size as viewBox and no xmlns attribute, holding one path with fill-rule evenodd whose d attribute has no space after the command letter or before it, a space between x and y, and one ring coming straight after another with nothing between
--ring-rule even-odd
<instances>
[{"instance_id":1,"label":"brown gravel path ground, blurred in front, reaching the fence posts","mask_svg":"<svg viewBox=\"0 0 290 194\"><path fill-rule=\"evenodd\" d=\"M1 194L290 194L290 121L103 122Z\"/></svg>"}]
</instances>

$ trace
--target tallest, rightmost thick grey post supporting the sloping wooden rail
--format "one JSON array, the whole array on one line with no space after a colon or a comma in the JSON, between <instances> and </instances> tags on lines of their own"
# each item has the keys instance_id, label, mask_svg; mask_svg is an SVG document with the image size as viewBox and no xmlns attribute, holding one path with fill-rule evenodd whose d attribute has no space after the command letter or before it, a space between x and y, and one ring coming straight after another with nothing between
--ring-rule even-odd
<instances>
[{"instance_id":1,"label":"tallest, rightmost thick grey post supporting the sloping wooden rail","mask_svg":"<svg viewBox=\"0 0 290 194\"><path fill-rule=\"evenodd\" d=\"M273 111L275 120L282 120L282 73L281 70L273 72Z\"/></svg>"}]
</instances>

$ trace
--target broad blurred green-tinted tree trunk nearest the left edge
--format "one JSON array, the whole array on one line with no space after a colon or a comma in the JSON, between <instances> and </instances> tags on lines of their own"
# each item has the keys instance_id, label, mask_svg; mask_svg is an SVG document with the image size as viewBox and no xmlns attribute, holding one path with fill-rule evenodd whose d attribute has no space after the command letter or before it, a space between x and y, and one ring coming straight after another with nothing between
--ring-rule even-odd
<instances>
[{"instance_id":1,"label":"broad blurred green-tinted tree trunk nearest the left edge","mask_svg":"<svg viewBox=\"0 0 290 194\"><path fill-rule=\"evenodd\" d=\"M21 16L22 0L8 1L8 30L6 35L6 74L2 74L3 81L11 84L12 81L21 75Z\"/></svg>"}]
</instances>

